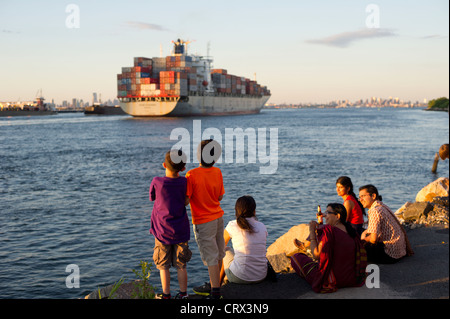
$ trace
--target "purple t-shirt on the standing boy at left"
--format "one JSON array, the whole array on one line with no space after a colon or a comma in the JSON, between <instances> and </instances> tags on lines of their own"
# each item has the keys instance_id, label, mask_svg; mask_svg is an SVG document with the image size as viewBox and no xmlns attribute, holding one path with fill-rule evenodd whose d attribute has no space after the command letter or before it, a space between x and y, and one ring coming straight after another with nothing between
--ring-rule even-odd
<instances>
[{"instance_id":1,"label":"purple t-shirt on the standing boy at left","mask_svg":"<svg viewBox=\"0 0 450 319\"><path fill-rule=\"evenodd\" d=\"M186 177L155 177L150 184L150 201L154 201L150 218L152 233L165 245L189 241L190 225L184 205Z\"/></svg>"}]
</instances>

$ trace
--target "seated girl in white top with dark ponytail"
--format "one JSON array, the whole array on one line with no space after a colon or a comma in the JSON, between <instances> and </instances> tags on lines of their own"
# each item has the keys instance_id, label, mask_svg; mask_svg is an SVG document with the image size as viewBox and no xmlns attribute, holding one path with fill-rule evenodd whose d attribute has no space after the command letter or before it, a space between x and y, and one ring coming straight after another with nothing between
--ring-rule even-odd
<instances>
[{"instance_id":1,"label":"seated girl in white top with dark ponytail","mask_svg":"<svg viewBox=\"0 0 450 319\"><path fill-rule=\"evenodd\" d=\"M230 221L224 231L225 246L231 239L233 248L225 248L221 283L225 278L237 284L263 281L267 275L267 229L256 220L253 197L243 196L236 201L236 220Z\"/></svg>"}]
</instances>

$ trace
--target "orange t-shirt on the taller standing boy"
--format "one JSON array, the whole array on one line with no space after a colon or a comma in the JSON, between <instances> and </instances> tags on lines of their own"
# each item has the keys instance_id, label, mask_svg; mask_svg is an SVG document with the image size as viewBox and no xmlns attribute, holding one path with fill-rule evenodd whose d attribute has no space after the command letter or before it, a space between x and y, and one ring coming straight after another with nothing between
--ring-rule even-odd
<instances>
[{"instance_id":1,"label":"orange t-shirt on the taller standing boy","mask_svg":"<svg viewBox=\"0 0 450 319\"><path fill-rule=\"evenodd\" d=\"M217 167L197 167L186 173L192 223L204 224L223 216L219 197L225 194L222 172Z\"/></svg>"}]
</instances>

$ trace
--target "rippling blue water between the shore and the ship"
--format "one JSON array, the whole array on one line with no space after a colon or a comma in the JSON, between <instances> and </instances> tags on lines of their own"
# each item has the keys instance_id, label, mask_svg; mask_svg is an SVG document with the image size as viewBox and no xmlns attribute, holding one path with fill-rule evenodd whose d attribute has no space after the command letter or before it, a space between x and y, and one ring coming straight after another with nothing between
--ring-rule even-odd
<instances>
[{"instance_id":1,"label":"rippling blue water between the shore and the ship","mask_svg":"<svg viewBox=\"0 0 450 319\"><path fill-rule=\"evenodd\" d=\"M225 222L234 203L257 202L270 245L313 218L318 204L341 202L335 181L376 185L396 210L440 176L434 153L448 143L448 113L419 109L265 110L259 115L203 117L202 129L278 128L278 170L261 164L219 164ZM174 128L191 133L193 118L60 114L0 119L0 298L80 298L152 262L148 233L151 179L163 175ZM188 169L196 164L188 164ZM357 191L356 191L357 193ZM189 289L208 280L191 232ZM80 269L80 288L66 287L66 266ZM160 287L159 274L151 283ZM173 289L177 288L175 272Z\"/></svg>"}]
</instances>

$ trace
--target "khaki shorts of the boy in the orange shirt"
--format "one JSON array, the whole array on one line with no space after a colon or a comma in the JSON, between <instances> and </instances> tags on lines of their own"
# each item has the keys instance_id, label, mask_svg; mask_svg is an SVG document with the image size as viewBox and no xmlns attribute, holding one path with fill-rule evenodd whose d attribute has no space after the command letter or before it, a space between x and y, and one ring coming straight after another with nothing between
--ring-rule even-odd
<instances>
[{"instance_id":1,"label":"khaki shorts of the boy in the orange shirt","mask_svg":"<svg viewBox=\"0 0 450 319\"><path fill-rule=\"evenodd\" d=\"M223 217L204 224L194 225L195 241L205 266L218 265L219 260L225 257L223 230Z\"/></svg>"}]
</instances>

